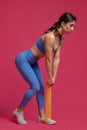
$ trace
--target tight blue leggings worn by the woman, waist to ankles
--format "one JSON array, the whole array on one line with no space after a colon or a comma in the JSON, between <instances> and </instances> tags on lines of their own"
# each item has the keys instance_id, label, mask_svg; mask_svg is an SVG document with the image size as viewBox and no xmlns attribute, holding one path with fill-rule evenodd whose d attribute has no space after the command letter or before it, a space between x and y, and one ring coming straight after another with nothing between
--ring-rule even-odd
<instances>
[{"instance_id":1,"label":"tight blue leggings worn by the woman, waist to ankles","mask_svg":"<svg viewBox=\"0 0 87 130\"><path fill-rule=\"evenodd\" d=\"M37 61L38 58L30 50L20 53L15 59L19 72L30 85L30 88L23 96L20 106L25 107L36 94L38 108L41 110L44 109L44 84Z\"/></svg>"}]
</instances>

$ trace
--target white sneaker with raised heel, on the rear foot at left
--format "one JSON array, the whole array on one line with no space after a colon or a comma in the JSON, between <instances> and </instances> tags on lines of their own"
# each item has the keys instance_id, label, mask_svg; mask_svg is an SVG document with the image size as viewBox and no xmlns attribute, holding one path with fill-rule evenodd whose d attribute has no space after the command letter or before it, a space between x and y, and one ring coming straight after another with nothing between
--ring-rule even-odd
<instances>
[{"instance_id":1,"label":"white sneaker with raised heel, on the rear foot at left","mask_svg":"<svg viewBox=\"0 0 87 130\"><path fill-rule=\"evenodd\" d=\"M18 112L17 108L16 108L13 111L13 114L16 116L18 124L20 124L20 125L26 125L27 124L27 122L25 121L24 116L23 116L23 111Z\"/></svg>"}]
</instances>

